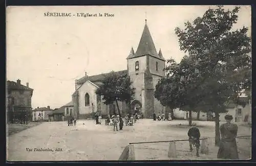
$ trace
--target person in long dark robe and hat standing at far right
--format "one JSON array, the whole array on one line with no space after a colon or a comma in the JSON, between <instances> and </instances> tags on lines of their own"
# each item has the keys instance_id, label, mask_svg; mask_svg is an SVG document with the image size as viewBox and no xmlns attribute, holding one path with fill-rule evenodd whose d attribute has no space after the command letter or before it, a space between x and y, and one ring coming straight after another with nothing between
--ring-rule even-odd
<instances>
[{"instance_id":1,"label":"person in long dark robe and hat standing at far right","mask_svg":"<svg viewBox=\"0 0 256 166\"><path fill-rule=\"evenodd\" d=\"M225 115L227 123L222 124L220 127L221 141L217 158L239 159L236 141L238 126L231 123L232 119L232 115Z\"/></svg>"}]
</instances>

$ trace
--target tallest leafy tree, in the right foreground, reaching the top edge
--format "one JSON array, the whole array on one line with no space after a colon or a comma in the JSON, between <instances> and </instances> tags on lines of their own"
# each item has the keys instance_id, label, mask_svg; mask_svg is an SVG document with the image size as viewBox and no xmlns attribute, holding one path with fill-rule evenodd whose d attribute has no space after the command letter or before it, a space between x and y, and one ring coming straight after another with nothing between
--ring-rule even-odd
<instances>
[{"instance_id":1,"label":"tallest leafy tree, in the right foreground, reaching the top edge","mask_svg":"<svg viewBox=\"0 0 256 166\"><path fill-rule=\"evenodd\" d=\"M205 94L201 105L207 105L204 111L212 110L216 114L216 145L220 140L219 113L226 112L227 103L238 103L242 90L250 89L248 28L231 30L238 20L238 12L239 7L230 11L218 6L208 9L192 23L186 22L184 30L175 29L180 49L198 62L197 69L204 80L199 87Z\"/></svg>"}]
</instances>

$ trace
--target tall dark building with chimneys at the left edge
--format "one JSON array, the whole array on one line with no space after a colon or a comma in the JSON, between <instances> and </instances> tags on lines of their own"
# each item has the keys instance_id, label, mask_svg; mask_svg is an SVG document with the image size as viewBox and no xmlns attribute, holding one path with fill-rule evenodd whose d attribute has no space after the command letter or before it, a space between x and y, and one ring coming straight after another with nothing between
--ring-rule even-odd
<instances>
[{"instance_id":1,"label":"tall dark building with chimneys at the left edge","mask_svg":"<svg viewBox=\"0 0 256 166\"><path fill-rule=\"evenodd\" d=\"M6 86L7 121L20 121L25 115L28 121L31 121L31 98L33 89L29 87L29 83L27 83L26 86L22 85L18 79L17 82L7 81Z\"/></svg>"}]
</instances>

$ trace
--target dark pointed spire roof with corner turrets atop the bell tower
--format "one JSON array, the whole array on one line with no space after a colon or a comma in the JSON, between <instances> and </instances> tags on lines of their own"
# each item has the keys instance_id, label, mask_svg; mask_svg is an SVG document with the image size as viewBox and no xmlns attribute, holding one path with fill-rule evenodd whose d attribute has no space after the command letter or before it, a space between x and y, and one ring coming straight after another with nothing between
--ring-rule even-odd
<instances>
[{"instance_id":1,"label":"dark pointed spire roof with corner turrets atop the bell tower","mask_svg":"<svg viewBox=\"0 0 256 166\"><path fill-rule=\"evenodd\" d=\"M164 60L162 56L160 57L157 54L155 44L153 42L153 39L150 34L150 30L148 29L146 23L145 23L144 30L142 32L140 42L139 42L139 45L138 45L135 55L132 56L130 53L130 55L129 55L129 57L127 57L127 59L135 58L135 57L139 57L139 56L143 56L143 55L151 55L151 56L154 56L154 57Z\"/></svg>"}]
</instances>

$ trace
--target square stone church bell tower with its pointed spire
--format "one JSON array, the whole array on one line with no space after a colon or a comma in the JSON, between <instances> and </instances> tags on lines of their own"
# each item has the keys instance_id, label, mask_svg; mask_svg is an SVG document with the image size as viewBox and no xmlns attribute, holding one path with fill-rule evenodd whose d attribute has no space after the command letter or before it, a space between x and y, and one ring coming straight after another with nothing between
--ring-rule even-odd
<instances>
[{"instance_id":1,"label":"square stone church bell tower with its pointed spire","mask_svg":"<svg viewBox=\"0 0 256 166\"><path fill-rule=\"evenodd\" d=\"M132 48L126 59L128 74L135 88L131 109L152 118L153 113L163 111L163 106L154 97L154 91L158 80L164 76L165 59L161 50L159 53L156 51L146 20L136 53Z\"/></svg>"}]
</instances>

